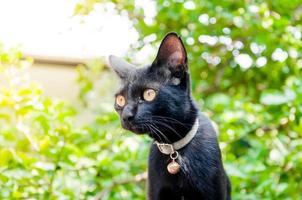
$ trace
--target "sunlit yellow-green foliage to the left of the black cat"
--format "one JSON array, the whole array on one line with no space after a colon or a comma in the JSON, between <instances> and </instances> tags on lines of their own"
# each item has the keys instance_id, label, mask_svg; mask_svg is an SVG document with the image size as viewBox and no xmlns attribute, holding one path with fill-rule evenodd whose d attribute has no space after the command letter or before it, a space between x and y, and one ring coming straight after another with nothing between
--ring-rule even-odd
<instances>
[{"instance_id":1,"label":"sunlit yellow-green foliage to the left of the black cat","mask_svg":"<svg viewBox=\"0 0 302 200\"><path fill-rule=\"evenodd\" d=\"M112 112L77 126L76 110L44 97L21 57L0 49L0 199L142 197L146 141L126 135Z\"/></svg>"}]
</instances>

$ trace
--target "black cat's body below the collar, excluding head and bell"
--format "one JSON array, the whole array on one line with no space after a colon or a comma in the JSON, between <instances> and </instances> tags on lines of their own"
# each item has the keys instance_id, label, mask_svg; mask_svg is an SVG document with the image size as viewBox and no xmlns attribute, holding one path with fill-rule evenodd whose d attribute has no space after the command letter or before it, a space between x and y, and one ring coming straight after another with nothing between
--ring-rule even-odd
<instances>
[{"instance_id":1,"label":"black cat's body below the collar, excluding head and bell","mask_svg":"<svg viewBox=\"0 0 302 200\"><path fill-rule=\"evenodd\" d=\"M215 130L203 114L199 114L198 120L195 137L178 151L180 173L168 173L169 156L152 144L148 170L150 200L230 199L230 183L221 162Z\"/></svg>"}]
</instances>

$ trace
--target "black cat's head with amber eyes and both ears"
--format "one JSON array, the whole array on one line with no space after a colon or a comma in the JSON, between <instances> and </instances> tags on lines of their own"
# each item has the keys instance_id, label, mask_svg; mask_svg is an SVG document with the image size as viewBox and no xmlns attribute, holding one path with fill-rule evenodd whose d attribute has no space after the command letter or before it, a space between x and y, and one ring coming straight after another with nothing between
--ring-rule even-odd
<instances>
[{"instance_id":1,"label":"black cat's head with amber eyes and both ears","mask_svg":"<svg viewBox=\"0 0 302 200\"><path fill-rule=\"evenodd\" d=\"M151 65L138 68L110 56L121 79L115 109L123 128L148 133L160 142L173 142L194 123L197 109L191 99L185 47L176 33L167 34Z\"/></svg>"}]
</instances>

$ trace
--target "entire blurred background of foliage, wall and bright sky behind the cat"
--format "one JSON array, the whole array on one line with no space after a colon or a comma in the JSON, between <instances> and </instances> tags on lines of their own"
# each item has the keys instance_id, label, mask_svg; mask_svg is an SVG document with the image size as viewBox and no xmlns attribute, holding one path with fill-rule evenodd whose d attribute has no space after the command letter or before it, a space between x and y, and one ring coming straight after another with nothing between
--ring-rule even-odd
<instances>
[{"instance_id":1,"label":"entire blurred background of foliage, wall and bright sky behind the cat","mask_svg":"<svg viewBox=\"0 0 302 200\"><path fill-rule=\"evenodd\" d=\"M0 199L145 199L107 57L150 64L170 31L233 199L302 199L301 0L0 0Z\"/></svg>"}]
</instances>

